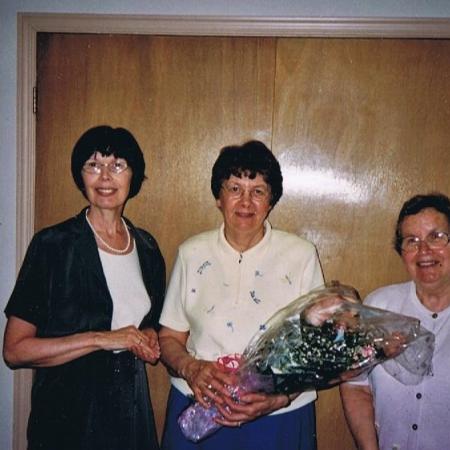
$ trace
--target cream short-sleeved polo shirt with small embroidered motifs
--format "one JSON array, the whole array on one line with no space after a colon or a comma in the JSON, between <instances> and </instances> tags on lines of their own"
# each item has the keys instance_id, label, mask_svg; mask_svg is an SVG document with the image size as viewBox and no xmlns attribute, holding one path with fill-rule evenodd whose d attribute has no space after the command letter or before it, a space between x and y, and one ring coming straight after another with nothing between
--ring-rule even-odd
<instances>
[{"instance_id":1,"label":"cream short-sleeved polo shirt with small embroidered motifs","mask_svg":"<svg viewBox=\"0 0 450 450\"><path fill-rule=\"evenodd\" d=\"M225 239L224 225L179 247L160 323L189 331L187 350L195 358L243 353L276 311L323 284L315 247L264 225L263 239L242 254ZM185 380L171 381L185 395L192 393ZM305 392L280 412L315 399L315 391Z\"/></svg>"}]
</instances>

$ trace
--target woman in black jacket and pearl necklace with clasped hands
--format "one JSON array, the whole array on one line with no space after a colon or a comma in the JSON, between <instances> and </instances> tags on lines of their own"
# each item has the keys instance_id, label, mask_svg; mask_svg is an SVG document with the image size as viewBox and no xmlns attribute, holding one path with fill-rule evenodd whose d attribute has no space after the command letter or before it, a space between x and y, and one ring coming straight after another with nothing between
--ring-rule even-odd
<instances>
[{"instance_id":1,"label":"woman in black jacket and pearl necklace with clasped hands","mask_svg":"<svg viewBox=\"0 0 450 450\"><path fill-rule=\"evenodd\" d=\"M158 448L145 363L159 359L165 264L122 216L144 171L129 131L89 129L72 152L88 207L30 243L3 347L11 368L36 369L30 450Z\"/></svg>"}]
</instances>

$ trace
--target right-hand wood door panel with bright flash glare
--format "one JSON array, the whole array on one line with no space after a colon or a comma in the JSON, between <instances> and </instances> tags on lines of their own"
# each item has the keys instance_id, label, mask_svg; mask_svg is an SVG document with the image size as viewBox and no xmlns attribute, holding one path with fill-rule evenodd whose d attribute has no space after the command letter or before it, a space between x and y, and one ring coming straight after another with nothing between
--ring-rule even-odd
<instances>
[{"instance_id":1,"label":"right-hand wood door panel with bright flash glare","mask_svg":"<svg viewBox=\"0 0 450 450\"><path fill-rule=\"evenodd\" d=\"M312 240L326 279L362 296L406 274L391 241L403 202L450 193L450 42L280 39L274 225ZM337 389L317 404L320 449L349 449ZM330 433L330 431L333 431Z\"/></svg>"}]
</instances>

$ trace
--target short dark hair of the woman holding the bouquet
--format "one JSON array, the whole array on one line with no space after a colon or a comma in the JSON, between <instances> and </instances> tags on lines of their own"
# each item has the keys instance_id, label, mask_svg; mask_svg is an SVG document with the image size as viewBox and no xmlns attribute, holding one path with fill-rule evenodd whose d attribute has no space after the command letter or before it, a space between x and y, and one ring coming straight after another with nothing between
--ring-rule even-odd
<instances>
[{"instance_id":1,"label":"short dark hair of the woman holding the bouquet","mask_svg":"<svg viewBox=\"0 0 450 450\"><path fill-rule=\"evenodd\" d=\"M283 195L283 175L280 164L269 148L254 140L222 148L212 168L211 190L214 198L219 198L222 184L231 175L253 179L258 174L270 186L270 206L273 208Z\"/></svg>"}]
</instances>

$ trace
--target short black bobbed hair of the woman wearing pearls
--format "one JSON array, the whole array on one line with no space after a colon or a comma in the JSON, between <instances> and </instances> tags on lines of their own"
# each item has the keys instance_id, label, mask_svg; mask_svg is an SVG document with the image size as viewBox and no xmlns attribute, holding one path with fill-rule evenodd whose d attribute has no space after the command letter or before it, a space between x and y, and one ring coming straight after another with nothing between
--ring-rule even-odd
<instances>
[{"instance_id":1,"label":"short black bobbed hair of the woman wearing pearls","mask_svg":"<svg viewBox=\"0 0 450 450\"><path fill-rule=\"evenodd\" d=\"M72 150L72 177L84 196L81 171L84 163L95 152L127 161L133 171L128 198L134 197L146 178L144 155L134 136L125 128L112 128L109 125L90 128L81 135Z\"/></svg>"}]
</instances>

